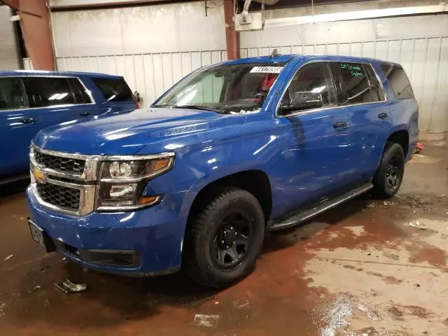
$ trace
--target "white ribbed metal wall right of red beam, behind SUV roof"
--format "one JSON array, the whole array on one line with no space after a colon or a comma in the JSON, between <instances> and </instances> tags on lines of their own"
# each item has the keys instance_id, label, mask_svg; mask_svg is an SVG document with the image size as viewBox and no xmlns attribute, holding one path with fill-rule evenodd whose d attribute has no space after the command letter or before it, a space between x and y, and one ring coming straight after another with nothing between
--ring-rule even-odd
<instances>
[{"instance_id":1,"label":"white ribbed metal wall right of red beam, behind SUV roof","mask_svg":"<svg viewBox=\"0 0 448 336\"><path fill-rule=\"evenodd\" d=\"M242 33L241 47L241 57L269 55L278 48L283 54L353 55L398 62L419 102L421 132L448 132L448 15L275 27Z\"/></svg>"}]
</instances>

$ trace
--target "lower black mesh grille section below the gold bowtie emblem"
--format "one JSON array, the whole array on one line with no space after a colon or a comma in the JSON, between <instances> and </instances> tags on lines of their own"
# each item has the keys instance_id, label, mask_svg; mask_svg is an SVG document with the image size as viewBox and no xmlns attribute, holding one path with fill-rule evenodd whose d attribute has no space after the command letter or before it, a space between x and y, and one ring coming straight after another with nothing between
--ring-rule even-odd
<instances>
[{"instance_id":1,"label":"lower black mesh grille section below the gold bowtie emblem","mask_svg":"<svg viewBox=\"0 0 448 336\"><path fill-rule=\"evenodd\" d=\"M57 207L78 211L80 190L56 186L50 183L36 183L36 188L44 202Z\"/></svg>"}]
</instances>

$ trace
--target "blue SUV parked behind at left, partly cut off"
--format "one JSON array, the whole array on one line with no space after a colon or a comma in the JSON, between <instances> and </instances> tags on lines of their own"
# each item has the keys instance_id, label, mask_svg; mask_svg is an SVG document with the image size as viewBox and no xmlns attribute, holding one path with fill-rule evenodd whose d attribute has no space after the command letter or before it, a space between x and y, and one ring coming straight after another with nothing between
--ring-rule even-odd
<instances>
[{"instance_id":1,"label":"blue SUV parked behind at left, partly cut off","mask_svg":"<svg viewBox=\"0 0 448 336\"><path fill-rule=\"evenodd\" d=\"M28 175L29 143L39 130L136 106L120 76L0 71L0 184Z\"/></svg>"}]
</instances>

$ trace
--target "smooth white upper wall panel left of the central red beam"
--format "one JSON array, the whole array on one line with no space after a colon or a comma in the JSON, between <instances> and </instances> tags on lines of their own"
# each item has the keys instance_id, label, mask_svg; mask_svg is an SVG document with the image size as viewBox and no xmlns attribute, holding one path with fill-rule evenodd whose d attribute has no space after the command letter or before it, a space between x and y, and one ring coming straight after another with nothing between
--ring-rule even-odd
<instances>
[{"instance_id":1,"label":"smooth white upper wall panel left of the central red beam","mask_svg":"<svg viewBox=\"0 0 448 336\"><path fill-rule=\"evenodd\" d=\"M57 57L225 49L223 2L51 13Z\"/></svg>"}]
</instances>

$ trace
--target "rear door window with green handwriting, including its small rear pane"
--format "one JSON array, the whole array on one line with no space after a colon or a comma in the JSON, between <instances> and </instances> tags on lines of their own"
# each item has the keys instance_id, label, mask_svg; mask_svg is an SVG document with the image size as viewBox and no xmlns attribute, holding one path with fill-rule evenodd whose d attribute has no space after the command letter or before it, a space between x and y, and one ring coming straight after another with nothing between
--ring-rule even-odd
<instances>
[{"instance_id":1,"label":"rear door window with green handwriting, including its small rear pane","mask_svg":"<svg viewBox=\"0 0 448 336\"><path fill-rule=\"evenodd\" d=\"M365 104L384 100L377 77L372 66L362 63L332 64L332 71L337 73L337 83L342 94L338 94L339 104Z\"/></svg>"}]
</instances>

